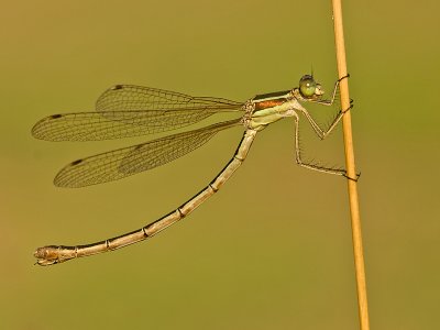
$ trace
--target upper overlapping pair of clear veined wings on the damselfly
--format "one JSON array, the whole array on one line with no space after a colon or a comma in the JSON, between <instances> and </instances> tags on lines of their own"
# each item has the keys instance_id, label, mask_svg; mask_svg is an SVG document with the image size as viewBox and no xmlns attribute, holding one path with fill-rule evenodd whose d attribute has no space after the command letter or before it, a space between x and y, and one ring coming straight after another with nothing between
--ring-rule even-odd
<instances>
[{"instance_id":1,"label":"upper overlapping pair of clear veined wings on the damselfly","mask_svg":"<svg viewBox=\"0 0 440 330\"><path fill-rule=\"evenodd\" d=\"M213 113L242 111L242 102L191 97L157 88L118 85L102 94L97 112L63 113L40 120L36 139L96 141L154 134L199 122Z\"/></svg>"}]
</instances>

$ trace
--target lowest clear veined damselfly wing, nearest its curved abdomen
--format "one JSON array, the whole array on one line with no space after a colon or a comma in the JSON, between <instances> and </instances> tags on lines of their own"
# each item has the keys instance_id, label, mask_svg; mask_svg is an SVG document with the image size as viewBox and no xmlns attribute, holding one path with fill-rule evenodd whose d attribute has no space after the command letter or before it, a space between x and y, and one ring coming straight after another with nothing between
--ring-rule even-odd
<instances>
[{"instance_id":1,"label":"lowest clear veined damselfly wing, nearest its curved abdomen","mask_svg":"<svg viewBox=\"0 0 440 330\"><path fill-rule=\"evenodd\" d=\"M153 140L75 161L55 177L59 187L102 184L164 165L208 142L217 132L240 125L240 119Z\"/></svg>"}]
</instances>

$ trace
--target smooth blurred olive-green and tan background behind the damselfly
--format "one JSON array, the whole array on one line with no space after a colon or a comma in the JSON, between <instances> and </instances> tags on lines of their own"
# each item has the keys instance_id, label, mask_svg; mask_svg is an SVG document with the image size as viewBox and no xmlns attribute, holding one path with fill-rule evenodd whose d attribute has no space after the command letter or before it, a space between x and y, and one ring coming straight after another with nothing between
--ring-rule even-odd
<instances>
[{"instance_id":1,"label":"smooth blurred olive-green and tan background behind the damselfly","mask_svg":"<svg viewBox=\"0 0 440 330\"><path fill-rule=\"evenodd\" d=\"M438 329L440 4L343 10L372 329ZM43 142L30 134L38 119L92 110L113 84L245 100L295 87L312 65L329 90L330 1L8 2L0 47L1 329L358 329L346 184L295 165L292 120L258 134L231 182L153 240L54 267L32 256L173 210L242 134L151 173L59 189L68 162L148 138ZM340 129L305 143L342 164Z\"/></svg>"}]
</instances>

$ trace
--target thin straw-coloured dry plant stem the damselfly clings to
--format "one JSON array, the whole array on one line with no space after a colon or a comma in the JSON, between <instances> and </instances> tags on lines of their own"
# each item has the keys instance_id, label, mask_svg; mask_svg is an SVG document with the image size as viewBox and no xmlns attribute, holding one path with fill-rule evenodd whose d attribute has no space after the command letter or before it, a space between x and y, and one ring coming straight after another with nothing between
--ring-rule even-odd
<instances>
[{"instance_id":1,"label":"thin straw-coloured dry plant stem the damselfly clings to","mask_svg":"<svg viewBox=\"0 0 440 330\"><path fill-rule=\"evenodd\" d=\"M333 4L333 23L334 23L338 74L339 77L344 77L346 75L346 62L345 62L345 45L344 45L343 26L342 26L341 0L332 0L332 4ZM348 81L349 79L343 79L340 85L342 109L349 109L350 107ZM350 178L355 178L356 170L354 165L353 136L351 130L351 111L346 111L346 113L342 118L342 124L343 124L344 148L345 148L346 175ZM360 323L361 323L361 330L369 330L370 329L369 305L366 299L365 267L364 267L364 255L362 248L361 217L359 212L358 183L353 179L348 179L346 182L349 185L349 200L350 200L351 227L353 237L354 266L356 272L356 284L358 284L358 305L359 305Z\"/></svg>"}]
</instances>

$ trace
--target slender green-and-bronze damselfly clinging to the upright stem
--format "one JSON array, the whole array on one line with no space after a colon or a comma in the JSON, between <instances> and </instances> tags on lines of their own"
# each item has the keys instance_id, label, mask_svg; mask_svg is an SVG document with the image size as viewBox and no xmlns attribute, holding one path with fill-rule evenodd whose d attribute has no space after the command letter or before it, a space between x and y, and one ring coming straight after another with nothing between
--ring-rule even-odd
<instances>
[{"instance_id":1,"label":"slender green-and-bronze damselfly clinging to the upright stem","mask_svg":"<svg viewBox=\"0 0 440 330\"><path fill-rule=\"evenodd\" d=\"M348 76L346 76L348 77ZM346 78L343 77L343 78ZM117 85L98 99L95 112L54 114L38 121L32 134L48 141L91 141L154 134L180 129L219 112L241 113L238 119L215 123L201 129L168 135L146 143L110 151L75 161L55 177L61 187L84 187L120 179L164 165L208 142L216 133L243 127L244 135L226 167L201 191L161 219L129 233L101 242L77 245L38 248L34 256L38 265L53 265L75 257L113 251L155 235L188 216L195 208L217 193L243 163L256 134L268 124L292 117L295 121L295 155L298 165L319 172L345 176L345 170L304 162L298 145L299 114L304 114L320 139L338 124L340 110L327 129L310 116L305 102L332 106L339 90L339 79L330 99L322 99L321 85L305 75L299 87L292 90L257 95L246 102L222 98L191 97L179 92L132 85Z\"/></svg>"}]
</instances>

